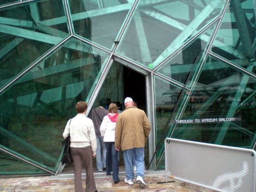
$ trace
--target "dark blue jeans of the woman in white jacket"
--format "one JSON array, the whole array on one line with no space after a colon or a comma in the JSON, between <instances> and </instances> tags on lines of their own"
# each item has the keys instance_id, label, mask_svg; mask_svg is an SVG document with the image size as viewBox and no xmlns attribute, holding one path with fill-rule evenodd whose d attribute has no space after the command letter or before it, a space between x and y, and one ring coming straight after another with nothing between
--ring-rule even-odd
<instances>
[{"instance_id":1,"label":"dark blue jeans of the woman in white jacket","mask_svg":"<svg viewBox=\"0 0 256 192\"><path fill-rule=\"evenodd\" d=\"M113 181L119 181L119 151L115 148L115 142L105 142L107 149L106 155L106 173L113 173Z\"/></svg>"}]
</instances>

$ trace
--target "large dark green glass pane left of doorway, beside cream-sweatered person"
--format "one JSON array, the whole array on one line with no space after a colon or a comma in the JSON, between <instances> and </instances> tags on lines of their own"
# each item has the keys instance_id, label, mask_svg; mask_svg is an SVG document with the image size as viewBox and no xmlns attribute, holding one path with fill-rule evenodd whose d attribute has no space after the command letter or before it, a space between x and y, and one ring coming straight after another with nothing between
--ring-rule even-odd
<instances>
[{"instance_id":1,"label":"large dark green glass pane left of doorway, beside cream-sweatered person","mask_svg":"<svg viewBox=\"0 0 256 192\"><path fill-rule=\"evenodd\" d=\"M0 96L0 145L56 169L66 122L76 114L75 103L90 96L106 56L70 39L8 87Z\"/></svg>"}]
</instances>

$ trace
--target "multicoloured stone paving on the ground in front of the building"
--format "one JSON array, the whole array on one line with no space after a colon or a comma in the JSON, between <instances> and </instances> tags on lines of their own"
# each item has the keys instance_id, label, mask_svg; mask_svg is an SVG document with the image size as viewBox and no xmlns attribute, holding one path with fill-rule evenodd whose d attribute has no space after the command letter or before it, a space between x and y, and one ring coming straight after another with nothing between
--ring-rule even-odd
<instances>
[{"instance_id":1,"label":"multicoloured stone paving on the ground in front of the building","mask_svg":"<svg viewBox=\"0 0 256 192\"><path fill-rule=\"evenodd\" d=\"M1 192L73 192L74 179L55 178L53 176L40 177L15 177L1 178ZM168 179L165 182L165 175L146 175L144 178L147 186L142 189L139 184L128 185L124 183L124 177L120 182L114 184L111 177L95 177L98 192L213 192L211 189L202 188L182 181ZM171 181L171 182L170 182ZM85 178L83 178L85 189Z\"/></svg>"}]
</instances>

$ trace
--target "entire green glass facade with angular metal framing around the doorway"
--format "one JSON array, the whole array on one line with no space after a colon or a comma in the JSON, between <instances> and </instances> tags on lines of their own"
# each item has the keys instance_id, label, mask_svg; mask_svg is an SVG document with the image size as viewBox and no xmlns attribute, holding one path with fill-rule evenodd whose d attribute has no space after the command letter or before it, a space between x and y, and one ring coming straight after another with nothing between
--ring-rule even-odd
<instances>
[{"instance_id":1,"label":"entire green glass facade with angular metal framing around the doorway","mask_svg":"<svg viewBox=\"0 0 256 192\"><path fill-rule=\"evenodd\" d=\"M55 174L75 103L131 96L166 137L256 147L256 0L0 1L0 175ZM120 102L120 103L119 103Z\"/></svg>"}]
</instances>

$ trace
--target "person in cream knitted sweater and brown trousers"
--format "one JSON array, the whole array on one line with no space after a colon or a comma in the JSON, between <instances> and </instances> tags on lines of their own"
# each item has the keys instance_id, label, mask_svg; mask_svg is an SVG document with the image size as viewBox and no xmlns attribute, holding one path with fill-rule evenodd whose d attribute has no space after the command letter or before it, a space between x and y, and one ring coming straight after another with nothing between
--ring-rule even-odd
<instances>
[{"instance_id":1,"label":"person in cream knitted sweater and brown trousers","mask_svg":"<svg viewBox=\"0 0 256 192\"><path fill-rule=\"evenodd\" d=\"M77 115L68 120L63 132L66 139L70 135L70 153L74 165L75 192L83 192L82 164L86 170L86 192L97 192L93 174L93 158L97 141L92 120L86 117L87 103L77 102Z\"/></svg>"}]
</instances>

